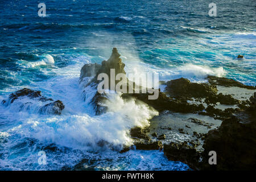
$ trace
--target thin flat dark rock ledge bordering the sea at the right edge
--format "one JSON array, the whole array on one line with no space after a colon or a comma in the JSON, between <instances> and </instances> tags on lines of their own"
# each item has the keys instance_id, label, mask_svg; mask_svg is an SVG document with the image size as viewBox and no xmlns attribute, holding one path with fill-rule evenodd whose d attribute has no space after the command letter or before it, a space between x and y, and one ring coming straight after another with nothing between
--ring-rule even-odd
<instances>
[{"instance_id":1,"label":"thin flat dark rock ledge bordering the sea at the right edge","mask_svg":"<svg viewBox=\"0 0 256 182\"><path fill-rule=\"evenodd\" d=\"M235 81L231 78L216 77L216 76L208 76L207 78L209 83L213 85L237 86L240 88L253 89L253 90L256 89L255 86L244 85L241 82Z\"/></svg>"}]
</instances>

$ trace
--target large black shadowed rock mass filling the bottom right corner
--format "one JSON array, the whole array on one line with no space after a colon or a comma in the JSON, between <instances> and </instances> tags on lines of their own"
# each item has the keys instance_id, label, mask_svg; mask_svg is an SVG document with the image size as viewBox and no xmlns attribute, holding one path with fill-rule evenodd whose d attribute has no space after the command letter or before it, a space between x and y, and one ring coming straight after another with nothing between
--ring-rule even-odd
<instances>
[{"instance_id":1,"label":"large black shadowed rock mass filling the bottom right corner","mask_svg":"<svg viewBox=\"0 0 256 182\"><path fill-rule=\"evenodd\" d=\"M204 142L205 170L256 169L256 119L254 115L237 113L224 119L216 130L210 130ZM216 151L217 165L209 165L209 151Z\"/></svg>"}]
</instances>

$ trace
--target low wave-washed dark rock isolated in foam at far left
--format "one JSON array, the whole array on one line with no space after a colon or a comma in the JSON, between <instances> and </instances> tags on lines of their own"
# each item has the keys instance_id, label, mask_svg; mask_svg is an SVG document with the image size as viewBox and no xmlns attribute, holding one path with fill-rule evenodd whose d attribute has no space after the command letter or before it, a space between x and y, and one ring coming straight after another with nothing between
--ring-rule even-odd
<instances>
[{"instance_id":1,"label":"low wave-washed dark rock isolated in foam at far left","mask_svg":"<svg viewBox=\"0 0 256 182\"><path fill-rule=\"evenodd\" d=\"M22 101L23 99L24 101ZM20 102L14 103L18 100ZM38 102L41 102L42 104L38 106ZM42 96L41 91L27 88L11 93L7 100L2 101L2 104L6 106L16 104L19 106L19 110L22 110L25 107L26 109L30 109L32 106L34 106L36 107L35 110L42 114L61 114L61 111L65 107L63 102L60 100L53 101L52 98Z\"/></svg>"}]
</instances>

